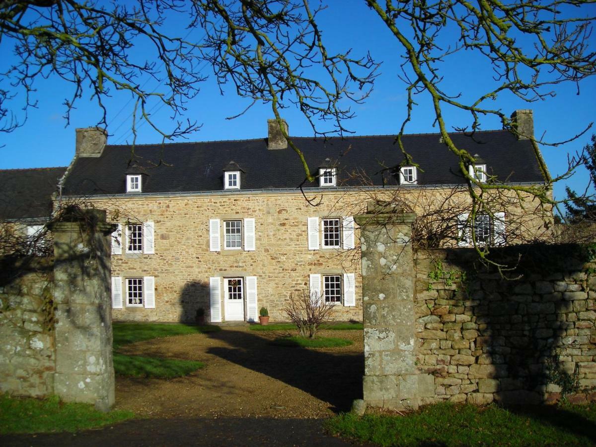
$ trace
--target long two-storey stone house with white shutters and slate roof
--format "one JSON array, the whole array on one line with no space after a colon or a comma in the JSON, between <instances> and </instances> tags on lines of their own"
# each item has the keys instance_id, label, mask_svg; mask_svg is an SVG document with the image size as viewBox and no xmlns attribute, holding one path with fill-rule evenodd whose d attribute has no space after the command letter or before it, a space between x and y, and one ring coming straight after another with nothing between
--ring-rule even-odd
<instances>
[{"instance_id":1,"label":"long two-storey stone house with white shutters and slate roof","mask_svg":"<svg viewBox=\"0 0 596 447\"><path fill-rule=\"evenodd\" d=\"M531 110L513 118L520 134L533 134ZM452 138L474 154L470 173L481 181L545 181L530 139L508 131ZM398 197L419 216L438 210L451 227L429 228L452 228L451 244L460 246L470 245L470 225L480 243L499 245L541 237L552 218L513 200L467 222L465 180L437 134L403 138L418 167L403 166L394 136L293 140L318 169L315 182L304 181L275 120L266 138L134 148L107 144L102 129L76 129L70 166L0 171L0 219L35 234L52 201L108 210L117 224L114 321L194 321L203 309L207 321L254 322L262 306L284 320L285 303L302 293L336 304L337 320L362 320L353 215L371 199Z\"/></svg>"}]
</instances>

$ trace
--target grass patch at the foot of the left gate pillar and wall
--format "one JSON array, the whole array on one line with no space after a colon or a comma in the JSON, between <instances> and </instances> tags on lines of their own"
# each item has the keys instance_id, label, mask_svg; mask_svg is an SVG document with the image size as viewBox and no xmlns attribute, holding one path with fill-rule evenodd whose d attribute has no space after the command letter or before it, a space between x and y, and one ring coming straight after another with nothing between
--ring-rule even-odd
<instances>
[{"instance_id":1,"label":"grass patch at the foot of the left gate pillar and wall","mask_svg":"<svg viewBox=\"0 0 596 447\"><path fill-rule=\"evenodd\" d=\"M86 403L60 402L56 396L40 400L0 395L0 434L77 432L134 417L132 411L97 411Z\"/></svg>"}]
</instances>

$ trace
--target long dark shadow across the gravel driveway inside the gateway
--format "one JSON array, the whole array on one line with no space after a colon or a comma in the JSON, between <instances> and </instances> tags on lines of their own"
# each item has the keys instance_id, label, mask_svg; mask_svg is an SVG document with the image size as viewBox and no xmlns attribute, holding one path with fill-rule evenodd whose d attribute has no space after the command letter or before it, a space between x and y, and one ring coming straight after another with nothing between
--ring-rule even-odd
<instances>
[{"instance_id":1,"label":"long dark shadow across the gravel driveway inside the gateway","mask_svg":"<svg viewBox=\"0 0 596 447\"><path fill-rule=\"evenodd\" d=\"M364 354L275 346L249 331L224 330L207 336L232 346L211 347L208 353L329 402L335 412L348 411L353 399L362 398Z\"/></svg>"}]
</instances>

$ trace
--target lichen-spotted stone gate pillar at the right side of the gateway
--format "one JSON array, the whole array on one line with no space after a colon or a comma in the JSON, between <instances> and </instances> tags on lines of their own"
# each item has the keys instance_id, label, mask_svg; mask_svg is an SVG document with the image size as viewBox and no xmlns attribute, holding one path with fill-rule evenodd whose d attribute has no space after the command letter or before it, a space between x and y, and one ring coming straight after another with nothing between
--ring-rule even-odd
<instances>
[{"instance_id":1,"label":"lichen-spotted stone gate pillar at the right side of the gateway","mask_svg":"<svg viewBox=\"0 0 596 447\"><path fill-rule=\"evenodd\" d=\"M414 259L416 215L370 201L354 216L361 229L364 312L364 402L418 408L415 366Z\"/></svg>"}]
</instances>

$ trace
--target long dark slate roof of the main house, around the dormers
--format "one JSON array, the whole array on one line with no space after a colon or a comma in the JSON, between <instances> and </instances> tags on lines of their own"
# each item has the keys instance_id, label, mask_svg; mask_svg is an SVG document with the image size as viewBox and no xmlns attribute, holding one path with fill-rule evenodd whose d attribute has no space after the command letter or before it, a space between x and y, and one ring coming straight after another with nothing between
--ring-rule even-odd
<instances>
[{"instance_id":1,"label":"long dark slate roof of the main house, around the dormers","mask_svg":"<svg viewBox=\"0 0 596 447\"><path fill-rule=\"evenodd\" d=\"M474 138L453 134L455 144L486 161L490 174L508 182L544 182L538 161L528 140L518 141L507 131L476 132ZM338 184L356 185L350 173L362 172L373 185L397 185L393 167L403 156L394 136L349 136L347 138L293 138L315 172L330 158L337 164ZM424 172L418 185L464 184L457 158L438 134L406 135L406 150ZM79 158L64 185L66 195L122 194L126 171L138 163L144 167L143 193L192 193L222 191L224 167L234 161L243 170L242 190L297 188L305 179L302 165L291 148L268 150L266 138L182 142L166 145L136 145L134 156L128 145L106 145L101 157ZM157 165L157 166L156 166ZM305 184L318 187L318 182Z\"/></svg>"}]
</instances>

